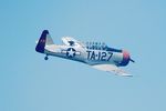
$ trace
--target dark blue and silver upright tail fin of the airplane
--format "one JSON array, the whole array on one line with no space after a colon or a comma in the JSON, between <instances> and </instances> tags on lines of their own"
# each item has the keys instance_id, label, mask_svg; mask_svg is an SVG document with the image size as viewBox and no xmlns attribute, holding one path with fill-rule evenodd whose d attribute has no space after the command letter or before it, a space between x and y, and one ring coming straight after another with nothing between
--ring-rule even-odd
<instances>
[{"instance_id":1,"label":"dark blue and silver upright tail fin of the airplane","mask_svg":"<svg viewBox=\"0 0 166 111\"><path fill-rule=\"evenodd\" d=\"M52 38L49 34L48 30L44 30L38 41L38 44L35 47L37 52L44 53L45 46L54 44Z\"/></svg>"}]
</instances>

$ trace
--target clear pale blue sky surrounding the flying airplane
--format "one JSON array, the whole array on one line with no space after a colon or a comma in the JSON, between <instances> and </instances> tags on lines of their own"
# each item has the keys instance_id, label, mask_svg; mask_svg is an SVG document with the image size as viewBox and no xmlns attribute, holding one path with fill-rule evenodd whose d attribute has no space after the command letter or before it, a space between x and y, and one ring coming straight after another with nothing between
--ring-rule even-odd
<instances>
[{"instance_id":1,"label":"clear pale blue sky surrounding the flying airplane","mask_svg":"<svg viewBox=\"0 0 166 111\"><path fill-rule=\"evenodd\" d=\"M48 29L127 49L133 78L34 51ZM166 111L165 0L1 0L0 111Z\"/></svg>"}]
</instances>

